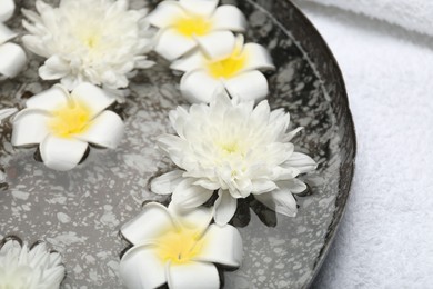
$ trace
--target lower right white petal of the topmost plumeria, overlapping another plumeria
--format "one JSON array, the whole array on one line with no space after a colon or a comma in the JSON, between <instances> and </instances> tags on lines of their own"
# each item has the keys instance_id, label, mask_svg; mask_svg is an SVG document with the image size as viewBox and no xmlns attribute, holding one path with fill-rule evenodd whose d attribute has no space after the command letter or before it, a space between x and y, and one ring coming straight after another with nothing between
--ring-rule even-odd
<instances>
[{"instance_id":1,"label":"lower right white petal of the topmost plumeria, overlapping another plumeria","mask_svg":"<svg viewBox=\"0 0 433 289\"><path fill-rule=\"evenodd\" d=\"M212 61L228 58L236 43L235 36L230 31L214 31L195 39L201 51Z\"/></svg>"}]
</instances>

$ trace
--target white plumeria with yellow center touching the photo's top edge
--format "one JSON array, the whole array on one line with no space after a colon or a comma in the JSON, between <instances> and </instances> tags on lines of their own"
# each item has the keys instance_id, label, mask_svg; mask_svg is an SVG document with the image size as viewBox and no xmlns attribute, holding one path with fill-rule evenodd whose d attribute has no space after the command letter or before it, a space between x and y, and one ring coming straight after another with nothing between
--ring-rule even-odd
<instances>
[{"instance_id":1,"label":"white plumeria with yellow center touching the photo's top edge","mask_svg":"<svg viewBox=\"0 0 433 289\"><path fill-rule=\"evenodd\" d=\"M160 28L154 50L172 61L200 43L210 57L226 53L233 46L232 32L244 32L246 20L234 6L218 0L163 1L149 17Z\"/></svg>"}]
</instances>

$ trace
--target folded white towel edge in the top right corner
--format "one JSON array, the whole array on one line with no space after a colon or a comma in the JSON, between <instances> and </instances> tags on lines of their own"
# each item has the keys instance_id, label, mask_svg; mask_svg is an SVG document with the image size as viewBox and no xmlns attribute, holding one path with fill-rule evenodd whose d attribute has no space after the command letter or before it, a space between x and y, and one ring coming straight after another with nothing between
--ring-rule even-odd
<instances>
[{"instance_id":1,"label":"folded white towel edge in the top right corner","mask_svg":"<svg viewBox=\"0 0 433 289\"><path fill-rule=\"evenodd\" d=\"M432 0L309 0L433 36Z\"/></svg>"}]
</instances>

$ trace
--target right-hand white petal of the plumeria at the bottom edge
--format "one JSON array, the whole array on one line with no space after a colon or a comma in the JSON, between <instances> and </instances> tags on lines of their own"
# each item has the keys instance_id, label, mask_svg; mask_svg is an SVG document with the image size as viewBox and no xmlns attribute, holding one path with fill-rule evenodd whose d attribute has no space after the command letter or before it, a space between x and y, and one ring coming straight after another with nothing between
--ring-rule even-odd
<instances>
[{"instance_id":1,"label":"right-hand white petal of the plumeria at the bottom edge","mask_svg":"<svg viewBox=\"0 0 433 289\"><path fill-rule=\"evenodd\" d=\"M242 237L233 226L211 225L205 232L204 247L198 261L240 267L243 256Z\"/></svg>"}]
</instances>

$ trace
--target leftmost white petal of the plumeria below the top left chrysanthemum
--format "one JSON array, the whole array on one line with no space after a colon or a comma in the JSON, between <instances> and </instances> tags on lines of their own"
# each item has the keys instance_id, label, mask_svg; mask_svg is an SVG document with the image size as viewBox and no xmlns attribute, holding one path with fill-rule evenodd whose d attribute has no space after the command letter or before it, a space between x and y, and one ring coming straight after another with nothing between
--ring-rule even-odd
<instances>
[{"instance_id":1,"label":"leftmost white petal of the plumeria below the top left chrysanthemum","mask_svg":"<svg viewBox=\"0 0 433 289\"><path fill-rule=\"evenodd\" d=\"M49 132L47 128L49 119L50 116L41 110L21 110L12 120L12 144L30 146L42 142Z\"/></svg>"}]
</instances>

